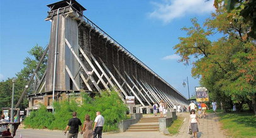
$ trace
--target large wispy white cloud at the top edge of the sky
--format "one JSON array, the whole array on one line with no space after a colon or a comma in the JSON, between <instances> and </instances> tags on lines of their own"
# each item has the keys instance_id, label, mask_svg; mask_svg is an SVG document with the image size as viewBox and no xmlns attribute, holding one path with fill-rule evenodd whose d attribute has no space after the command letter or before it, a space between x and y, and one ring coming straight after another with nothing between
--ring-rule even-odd
<instances>
[{"instance_id":1,"label":"large wispy white cloud at the top edge of the sky","mask_svg":"<svg viewBox=\"0 0 256 138\"><path fill-rule=\"evenodd\" d=\"M155 11L149 14L150 18L157 18L164 23L172 19L181 18L187 14L206 14L214 11L214 0L163 0L162 3L152 3Z\"/></svg>"}]
</instances>

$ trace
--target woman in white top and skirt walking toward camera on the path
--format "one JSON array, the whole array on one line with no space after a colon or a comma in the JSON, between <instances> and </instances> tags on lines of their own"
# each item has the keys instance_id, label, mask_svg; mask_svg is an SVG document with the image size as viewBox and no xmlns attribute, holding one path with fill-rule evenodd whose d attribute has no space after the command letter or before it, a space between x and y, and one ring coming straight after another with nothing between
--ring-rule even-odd
<instances>
[{"instance_id":1,"label":"woman in white top and skirt walking toward camera on the path","mask_svg":"<svg viewBox=\"0 0 256 138\"><path fill-rule=\"evenodd\" d=\"M198 124L200 123L198 121L198 117L196 117L196 112L193 109L190 112L189 123L191 125L191 130L192 130L192 133L194 134L194 137L197 137Z\"/></svg>"}]
</instances>

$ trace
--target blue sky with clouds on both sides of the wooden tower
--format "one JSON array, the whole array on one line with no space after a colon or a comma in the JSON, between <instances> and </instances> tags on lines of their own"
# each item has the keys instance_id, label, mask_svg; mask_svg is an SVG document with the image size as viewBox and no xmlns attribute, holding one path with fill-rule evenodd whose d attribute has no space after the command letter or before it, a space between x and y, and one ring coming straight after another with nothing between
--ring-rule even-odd
<instances>
[{"instance_id":1,"label":"blue sky with clouds on both sides of the wooden tower","mask_svg":"<svg viewBox=\"0 0 256 138\"><path fill-rule=\"evenodd\" d=\"M47 4L57 1L0 1L0 80L14 77L23 68L23 60L36 44L46 46L50 37ZM84 15L106 31L133 55L188 97L182 82L189 77L189 89L199 80L191 77L191 66L178 63L173 46L181 31L191 26L190 19L203 23L209 18L213 0L130 0L82 1Z\"/></svg>"}]
</instances>

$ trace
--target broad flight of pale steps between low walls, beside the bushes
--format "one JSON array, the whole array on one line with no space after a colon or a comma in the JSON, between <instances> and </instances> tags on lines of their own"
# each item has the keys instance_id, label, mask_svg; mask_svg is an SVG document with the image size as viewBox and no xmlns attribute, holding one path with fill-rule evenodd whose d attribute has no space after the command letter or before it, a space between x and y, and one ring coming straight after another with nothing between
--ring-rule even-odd
<instances>
[{"instance_id":1,"label":"broad flight of pale steps between low walls, beside the bushes","mask_svg":"<svg viewBox=\"0 0 256 138\"><path fill-rule=\"evenodd\" d=\"M142 117L136 124L130 125L128 132L159 131L160 117Z\"/></svg>"}]
</instances>

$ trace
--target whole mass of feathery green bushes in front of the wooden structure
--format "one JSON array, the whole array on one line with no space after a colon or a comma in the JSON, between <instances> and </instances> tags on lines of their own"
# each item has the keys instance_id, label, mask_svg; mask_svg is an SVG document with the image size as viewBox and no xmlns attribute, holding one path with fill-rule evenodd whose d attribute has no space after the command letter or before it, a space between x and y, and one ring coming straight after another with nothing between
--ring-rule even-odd
<instances>
[{"instance_id":1,"label":"whole mass of feathery green bushes in front of the wooden structure","mask_svg":"<svg viewBox=\"0 0 256 138\"><path fill-rule=\"evenodd\" d=\"M87 93L81 92L82 104L75 102L74 98L69 98L62 100L60 102L55 102L53 105L55 107L55 114L52 118L49 118L51 122L44 127L48 129L58 129L64 130L69 122L69 119L72 117L72 112L77 112L77 117L81 119L81 122L84 122L85 115L88 114L91 117L91 120L94 120L96 117L96 112L99 111L105 119L105 124L103 127L104 132L117 130L118 122L126 119L126 105L123 104L120 97L116 92L102 92L101 95L97 95L94 98L89 97ZM41 110L44 110L45 107L42 107ZM38 119L37 116L42 116L42 112L35 111L30 115L28 121L25 119L26 127L42 129L38 124L33 124ZM51 114L51 113L50 113ZM48 122L48 121L46 121Z\"/></svg>"}]
</instances>

